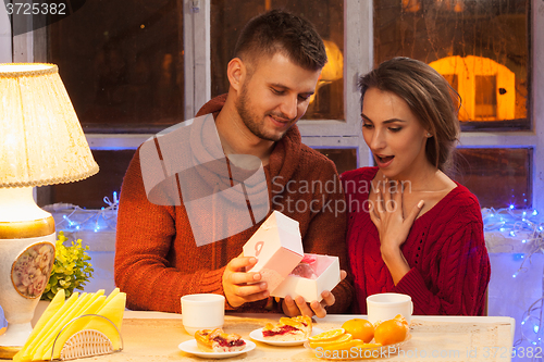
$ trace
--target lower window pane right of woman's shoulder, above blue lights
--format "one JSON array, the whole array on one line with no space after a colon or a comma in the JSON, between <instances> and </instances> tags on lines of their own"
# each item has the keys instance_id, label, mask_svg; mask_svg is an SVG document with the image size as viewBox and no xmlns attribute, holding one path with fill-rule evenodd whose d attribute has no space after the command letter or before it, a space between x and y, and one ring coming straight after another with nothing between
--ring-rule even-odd
<instances>
[{"instance_id":1,"label":"lower window pane right of woman's shoulder, above blue lights","mask_svg":"<svg viewBox=\"0 0 544 362\"><path fill-rule=\"evenodd\" d=\"M482 208L531 208L531 149L457 149L454 179Z\"/></svg>"}]
</instances>

